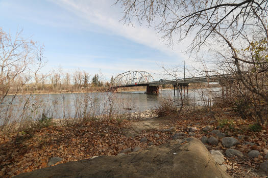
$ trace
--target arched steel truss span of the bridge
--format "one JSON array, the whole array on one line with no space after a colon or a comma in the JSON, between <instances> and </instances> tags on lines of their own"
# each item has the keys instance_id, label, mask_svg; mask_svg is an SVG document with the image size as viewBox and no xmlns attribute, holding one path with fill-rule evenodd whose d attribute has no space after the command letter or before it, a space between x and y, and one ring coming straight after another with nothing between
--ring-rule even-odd
<instances>
[{"instance_id":1,"label":"arched steel truss span of the bridge","mask_svg":"<svg viewBox=\"0 0 268 178\"><path fill-rule=\"evenodd\" d=\"M127 71L114 78L113 86L140 85L154 81L152 75L146 71Z\"/></svg>"}]
</instances>

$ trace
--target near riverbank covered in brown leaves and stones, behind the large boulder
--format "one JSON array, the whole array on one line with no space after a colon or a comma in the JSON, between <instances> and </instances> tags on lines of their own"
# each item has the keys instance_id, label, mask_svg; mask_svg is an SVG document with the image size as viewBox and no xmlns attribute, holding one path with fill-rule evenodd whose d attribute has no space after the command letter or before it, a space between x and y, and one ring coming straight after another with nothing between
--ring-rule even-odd
<instances>
[{"instance_id":1,"label":"near riverbank covered in brown leaves and stones, behind the large boulder","mask_svg":"<svg viewBox=\"0 0 268 178\"><path fill-rule=\"evenodd\" d=\"M131 120L92 120L72 126L52 125L32 133L1 133L0 176L11 177L46 167L51 164L51 158L59 157L60 161L54 164L60 164L101 155L117 155L127 153L129 148L145 149L184 137L198 138L208 150L220 151L224 159L221 165L234 177L263 176L260 166L268 152L267 126L253 131L253 121L241 120L234 112L226 110L214 115L187 109L180 115L155 117L154 114L147 110L136 113L136 118ZM243 156L228 157L228 148L218 133L236 139L238 143L231 149ZM141 141L144 138L146 141ZM250 157L251 150L257 151L258 156Z\"/></svg>"}]
</instances>

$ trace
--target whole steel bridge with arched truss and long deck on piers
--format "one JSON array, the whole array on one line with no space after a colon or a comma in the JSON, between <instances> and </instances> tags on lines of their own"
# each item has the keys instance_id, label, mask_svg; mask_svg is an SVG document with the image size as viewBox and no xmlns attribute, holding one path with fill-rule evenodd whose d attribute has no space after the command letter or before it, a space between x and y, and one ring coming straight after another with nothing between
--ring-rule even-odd
<instances>
[{"instance_id":1,"label":"whole steel bridge with arched truss and long deck on piers","mask_svg":"<svg viewBox=\"0 0 268 178\"><path fill-rule=\"evenodd\" d=\"M179 87L182 91L182 86L187 86L189 83L205 83L205 82L221 82L222 80L230 77L233 74L225 75L211 75L202 77L189 77L172 80L158 80L155 81L152 75L145 71L127 71L117 75L110 87L111 91L116 91L120 87L133 87L133 86L147 86L146 93L153 94L159 93L159 86L164 84L170 84L174 86L174 95L177 87L179 93Z\"/></svg>"}]
</instances>

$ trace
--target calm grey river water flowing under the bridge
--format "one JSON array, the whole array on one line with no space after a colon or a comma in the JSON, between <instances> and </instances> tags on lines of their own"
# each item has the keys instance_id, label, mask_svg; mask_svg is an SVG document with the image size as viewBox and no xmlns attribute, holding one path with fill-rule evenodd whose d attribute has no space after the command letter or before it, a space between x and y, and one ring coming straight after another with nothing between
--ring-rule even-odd
<instances>
[{"instance_id":1,"label":"calm grey river water flowing under the bridge","mask_svg":"<svg viewBox=\"0 0 268 178\"><path fill-rule=\"evenodd\" d=\"M221 88L213 88L214 94L220 94ZM0 105L0 119L19 117L32 119L45 113L53 118L81 118L89 116L144 111L156 108L163 98L180 103L180 95L174 90L160 90L159 94L145 94L145 91L121 93L77 93L77 94L41 94L12 96ZM182 91L183 93L183 91ZM207 99L207 89L185 91L186 105L203 105L202 98ZM202 95L203 94L203 95ZM12 102L11 102L12 101ZM87 115L88 116L88 115Z\"/></svg>"}]
</instances>

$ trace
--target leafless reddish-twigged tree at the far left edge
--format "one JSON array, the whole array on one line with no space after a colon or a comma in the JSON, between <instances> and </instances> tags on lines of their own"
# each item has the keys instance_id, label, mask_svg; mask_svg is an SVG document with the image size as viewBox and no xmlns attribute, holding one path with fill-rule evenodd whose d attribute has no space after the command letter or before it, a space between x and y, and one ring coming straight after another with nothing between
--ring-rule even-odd
<instances>
[{"instance_id":1,"label":"leafless reddish-twigged tree at the far left edge","mask_svg":"<svg viewBox=\"0 0 268 178\"><path fill-rule=\"evenodd\" d=\"M19 80L22 87L28 80L20 80L20 75L32 62L34 42L21 37L21 31L14 37L0 28L0 104L4 101L10 88ZM15 95L19 92L15 91Z\"/></svg>"}]
</instances>

